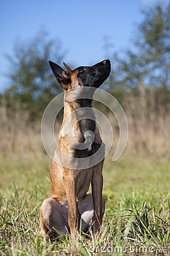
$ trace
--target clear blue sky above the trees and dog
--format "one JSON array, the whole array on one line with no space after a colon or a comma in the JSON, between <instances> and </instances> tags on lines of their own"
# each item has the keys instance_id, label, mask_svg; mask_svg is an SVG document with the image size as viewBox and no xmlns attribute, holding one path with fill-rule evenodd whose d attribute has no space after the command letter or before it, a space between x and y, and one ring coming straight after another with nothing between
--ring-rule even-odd
<instances>
[{"instance_id":1,"label":"clear blue sky above the trees and dog","mask_svg":"<svg viewBox=\"0 0 170 256\"><path fill-rule=\"evenodd\" d=\"M0 92L9 84L5 73L19 36L32 38L40 29L50 38L61 40L67 49L66 63L75 66L91 65L103 60L104 37L108 36L113 50L122 51L131 46L135 23L141 22L141 9L156 0L1 0L0 3Z\"/></svg>"}]
</instances>

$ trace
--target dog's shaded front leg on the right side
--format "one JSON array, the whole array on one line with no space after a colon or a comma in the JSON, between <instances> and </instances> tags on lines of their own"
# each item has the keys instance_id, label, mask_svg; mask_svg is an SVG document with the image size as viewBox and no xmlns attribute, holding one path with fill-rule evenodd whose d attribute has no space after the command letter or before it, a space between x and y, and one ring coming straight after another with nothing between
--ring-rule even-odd
<instances>
[{"instance_id":1,"label":"dog's shaded front leg on the right side","mask_svg":"<svg viewBox=\"0 0 170 256\"><path fill-rule=\"evenodd\" d=\"M102 189L103 189L103 175L102 175L103 161L96 164L94 167L94 175L92 177L92 197L94 202L94 217L93 231L94 234L99 230L102 223L102 216L104 213L103 199L102 199Z\"/></svg>"}]
</instances>

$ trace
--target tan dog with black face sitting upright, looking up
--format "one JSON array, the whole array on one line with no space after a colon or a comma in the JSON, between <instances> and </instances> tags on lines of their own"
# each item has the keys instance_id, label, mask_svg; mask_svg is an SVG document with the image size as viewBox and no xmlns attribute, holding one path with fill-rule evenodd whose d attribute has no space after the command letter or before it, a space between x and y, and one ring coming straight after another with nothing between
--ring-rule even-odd
<instances>
[{"instance_id":1,"label":"tan dog with black face sitting upright, looking up","mask_svg":"<svg viewBox=\"0 0 170 256\"><path fill-rule=\"evenodd\" d=\"M40 207L40 228L42 234L47 237L60 237L69 233L74 238L79 230L88 233L92 229L95 234L102 224L105 212L105 199L102 195L104 143L91 108L92 98L77 99L74 97L76 93L71 93L71 91L74 89L76 92L78 89L87 87L94 88L94 90L99 88L111 72L111 62L103 60L91 67L82 66L74 70L71 70L65 63L63 64L66 70L49 61L54 76L65 92L65 104L63 122L58 134L58 148L54 154L54 159L56 156L61 162L53 160L50 167L51 188L49 198L45 199ZM86 109L93 118L86 117ZM76 110L84 110L79 119L75 113ZM70 114L70 123L64 129ZM72 130L72 135L69 135L69 129ZM91 133L94 134L93 139ZM90 141L90 146L83 149L74 147L68 143L69 136L72 136L71 139L74 137L77 145ZM99 163L94 165L91 163L87 168L86 166L82 169L76 168L74 159L88 158L94 155L99 148L102 156ZM68 157L63 159L62 154ZM90 184L92 193L87 193Z\"/></svg>"}]
</instances>

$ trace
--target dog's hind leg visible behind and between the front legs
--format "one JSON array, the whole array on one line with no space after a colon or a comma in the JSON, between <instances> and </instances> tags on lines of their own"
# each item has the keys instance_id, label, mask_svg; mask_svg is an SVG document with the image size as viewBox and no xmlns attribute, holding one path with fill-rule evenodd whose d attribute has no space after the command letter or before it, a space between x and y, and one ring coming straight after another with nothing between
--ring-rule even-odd
<instances>
[{"instance_id":1,"label":"dog's hind leg visible behind and between the front legs","mask_svg":"<svg viewBox=\"0 0 170 256\"><path fill-rule=\"evenodd\" d=\"M78 201L78 211L80 214L80 228L84 233L87 233L92 226L92 218L94 216L94 203L92 193L86 195L84 199ZM102 196L102 216L105 211L105 199Z\"/></svg>"}]
</instances>

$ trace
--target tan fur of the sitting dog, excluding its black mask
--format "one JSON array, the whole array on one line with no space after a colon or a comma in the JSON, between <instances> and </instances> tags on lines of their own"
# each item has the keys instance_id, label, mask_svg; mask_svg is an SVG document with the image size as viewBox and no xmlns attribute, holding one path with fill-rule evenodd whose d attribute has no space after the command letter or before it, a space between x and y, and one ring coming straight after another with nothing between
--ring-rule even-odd
<instances>
[{"instance_id":1,"label":"tan fur of the sitting dog, excluding its black mask","mask_svg":"<svg viewBox=\"0 0 170 256\"><path fill-rule=\"evenodd\" d=\"M77 77L79 72L79 69L71 71L67 66L66 69L69 72L67 82L65 80L63 82L61 77L58 77L53 71L65 91L78 86ZM67 73L62 72L63 77L67 78ZM57 155L61 150L66 155L74 157L74 149L66 142L70 127L63 130L63 126L67 117L78 108L79 105L76 101L71 101L64 107L63 122L58 135L59 148L55 152ZM80 123L76 121L75 114L73 114L72 121L76 123L73 129L73 137L79 143L81 127ZM97 126L94 135L94 143L101 144L102 141ZM54 160L52 161L49 199L45 199L40 208L40 227L44 235L48 234L52 237L68 232L74 237L79 228L88 232L90 226L92 226L94 233L99 230L105 210L105 200L102 196L102 168L103 160L96 166L83 170L62 167ZM87 194L90 183L92 193Z\"/></svg>"}]
</instances>

